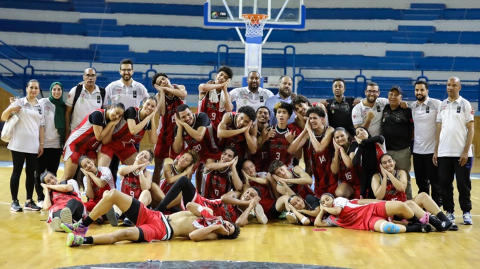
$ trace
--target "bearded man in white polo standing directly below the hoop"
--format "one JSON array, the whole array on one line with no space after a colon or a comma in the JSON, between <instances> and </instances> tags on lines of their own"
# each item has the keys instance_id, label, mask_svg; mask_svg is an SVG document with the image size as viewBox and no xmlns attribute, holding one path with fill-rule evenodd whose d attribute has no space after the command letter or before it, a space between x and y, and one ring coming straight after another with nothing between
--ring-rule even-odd
<instances>
[{"instance_id":1,"label":"bearded man in white polo standing directly below the hoop","mask_svg":"<svg viewBox=\"0 0 480 269\"><path fill-rule=\"evenodd\" d=\"M257 110L260 106L264 106L268 98L273 96L273 93L267 89L260 88L260 73L257 71L250 71L247 83L249 86L236 88L230 92L230 100L237 104L237 111L242 106L251 106Z\"/></svg>"}]
</instances>

